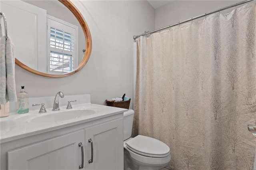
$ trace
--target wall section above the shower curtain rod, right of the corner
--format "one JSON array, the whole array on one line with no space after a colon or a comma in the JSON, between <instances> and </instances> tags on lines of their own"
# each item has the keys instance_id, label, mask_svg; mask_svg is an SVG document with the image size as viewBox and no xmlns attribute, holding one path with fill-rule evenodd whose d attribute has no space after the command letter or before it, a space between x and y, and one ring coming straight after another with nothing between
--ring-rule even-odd
<instances>
[{"instance_id":1,"label":"wall section above the shower curtain rod, right of the corner","mask_svg":"<svg viewBox=\"0 0 256 170\"><path fill-rule=\"evenodd\" d=\"M200 16L241 1L242 0L176 0L156 9L155 29L176 24L192 17ZM238 7L239 6L237 6L237 8ZM235 8L230 8L228 10L221 11L221 13L225 14L234 9Z\"/></svg>"}]
</instances>

